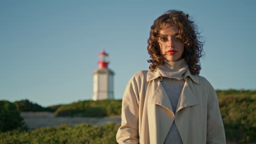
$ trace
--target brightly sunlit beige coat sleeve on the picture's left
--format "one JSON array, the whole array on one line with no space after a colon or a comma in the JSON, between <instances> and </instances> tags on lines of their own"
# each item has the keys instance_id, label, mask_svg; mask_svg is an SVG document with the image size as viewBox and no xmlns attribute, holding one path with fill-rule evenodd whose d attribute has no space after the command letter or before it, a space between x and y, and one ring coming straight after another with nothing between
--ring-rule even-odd
<instances>
[{"instance_id":1,"label":"brightly sunlit beige coat sleeve on the picture's left","mask_svg":"<svg viewBox=\"0 0 256 144\"><path fill-rule=\"evenodd\" d=\"M121 126L117 133L118 143L139 143L138 133L139 92L135 80L127 84L123 96Z\"/></svg>"}]
</instances>

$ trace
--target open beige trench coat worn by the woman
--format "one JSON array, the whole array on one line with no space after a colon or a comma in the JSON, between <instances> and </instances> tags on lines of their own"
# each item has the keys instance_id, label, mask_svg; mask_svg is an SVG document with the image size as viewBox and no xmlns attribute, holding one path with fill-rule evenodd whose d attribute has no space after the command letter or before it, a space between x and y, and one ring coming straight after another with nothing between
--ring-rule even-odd
<instances>
[{"instance_id":1,"label":"open beige trench coat worn by the woman","mask_svg":"<svg viewBox=\"0 0 256 144\"><path fill-rule=\"evenodd\" d=\"M139 71L126 86L118 143L164 143L175 121L183 144L225 143L216 92L204 77L185 73L174 115L156 71Z\"/></svg>"}]
</instances>

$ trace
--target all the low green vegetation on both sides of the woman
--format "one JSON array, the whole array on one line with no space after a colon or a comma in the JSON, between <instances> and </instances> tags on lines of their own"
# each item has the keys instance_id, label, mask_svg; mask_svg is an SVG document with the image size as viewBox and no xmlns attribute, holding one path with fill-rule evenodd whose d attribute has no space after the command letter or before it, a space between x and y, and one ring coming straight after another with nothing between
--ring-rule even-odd
<instances>
[{"instance_id":1,"label":"all the low green vegetation on both sides of the woman","mask_svg":"<svg viewBox=\"0 0 256 144\"><path fill-rule=\"evenodd\" d=\"M256 142L256 91L216 91L226 139L236 143ZM27 130L19 111L51 111L55 116L106 117L121 114L121 100L84 100L42 107L28 100L0 101L0 143L116 143L119 124L80 124ZM9 124L9 125L8 125Z\"/></svg>"}]
</instances>

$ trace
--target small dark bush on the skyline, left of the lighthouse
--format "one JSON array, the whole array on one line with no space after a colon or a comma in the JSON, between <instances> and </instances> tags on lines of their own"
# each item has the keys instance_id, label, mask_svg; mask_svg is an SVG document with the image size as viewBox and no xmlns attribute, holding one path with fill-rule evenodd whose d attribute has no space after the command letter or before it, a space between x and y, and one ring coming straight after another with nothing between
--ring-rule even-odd
<instances>
[{"instance_id":1,"label":"small dark bush on the skyline, left of the lighthouse","mask_svg":"<svg viewBox=\"0 0 256 144\"><path fill-rule=\"evenodd\" d=\"M38 104L34 104L31 101L25 99L20 101L15 101L13 104L16 105L19 111L25 112L25 111L33 111L33 112L40 112L40 111L49 111L54 112L54 109L51 109L51 107L42 107Z\"/></svg>"}]
</instances>

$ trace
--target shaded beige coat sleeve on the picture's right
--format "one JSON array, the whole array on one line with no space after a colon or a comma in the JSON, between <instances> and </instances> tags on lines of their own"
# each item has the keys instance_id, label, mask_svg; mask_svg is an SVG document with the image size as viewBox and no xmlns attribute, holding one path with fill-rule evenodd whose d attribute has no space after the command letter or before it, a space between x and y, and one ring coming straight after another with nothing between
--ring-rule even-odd
<instances>
[{"instance_id":1,"label":"shaded beige coat sleeve on the picture's right","mask_svg":"<svg viewBox=\"0 0 256 144\"><path fill-rule=\"evenodd\" d=\"M208 92L206 143L226 143L218 97L211 84Z\"/></svg>"}]
</instances>

